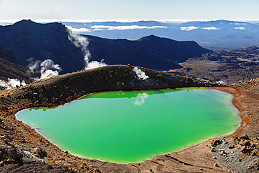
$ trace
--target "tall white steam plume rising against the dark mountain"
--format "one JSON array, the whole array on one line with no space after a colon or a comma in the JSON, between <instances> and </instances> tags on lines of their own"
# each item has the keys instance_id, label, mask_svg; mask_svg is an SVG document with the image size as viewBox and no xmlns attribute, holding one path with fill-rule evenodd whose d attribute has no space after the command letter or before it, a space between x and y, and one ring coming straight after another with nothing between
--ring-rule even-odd
<instances>
[{"instance_id":1,"label":"tall white steam plume rising against the dark mountain","mask_svg":"<svg viewBox=\"0 0 259 173\"><path fill-rule=\"evenodd\" d=\"M85 36L81 36L80 34L73 34L71 30L67 29L68 38L74 46L80 48L83 51L84 60L85 60L85 69L93 69L97 67L103 67L107 64L104 63L104 59L101 62L93 61L90 62L91 53L88 50L87 46L89 45L89 41Z\"/></svg>"}]
</instances>

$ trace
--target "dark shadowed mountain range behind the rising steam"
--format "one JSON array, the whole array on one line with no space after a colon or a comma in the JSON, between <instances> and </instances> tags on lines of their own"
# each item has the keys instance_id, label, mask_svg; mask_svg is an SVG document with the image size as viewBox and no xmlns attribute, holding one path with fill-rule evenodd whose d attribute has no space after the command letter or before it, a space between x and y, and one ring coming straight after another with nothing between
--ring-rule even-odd
<instances>
[{"instance_id":1,"label":"dark shadowed mountain range behind the rising steam","mask_svg":"<svg viewBox=\"0 0 259 173\"><path fill-rule=\"evenodd\" d=\"M0 26L0 45L15 53L10 62L28 65L28 59L50 59L62 67L61 74L85 67L85 50L69 39L69 30L61 23L39 24L22 20L14 25ZM78 37L79 35L74 35ZM195 41L174 41L158 36L145 36L135 41L126 39L102 39L82 35L89 42L90 61L106 64L132 64L151 69L168 70L180 67L190 57L209 53ZM78 40L80 42L80 40Z\"/></svg>"}]
</instances>

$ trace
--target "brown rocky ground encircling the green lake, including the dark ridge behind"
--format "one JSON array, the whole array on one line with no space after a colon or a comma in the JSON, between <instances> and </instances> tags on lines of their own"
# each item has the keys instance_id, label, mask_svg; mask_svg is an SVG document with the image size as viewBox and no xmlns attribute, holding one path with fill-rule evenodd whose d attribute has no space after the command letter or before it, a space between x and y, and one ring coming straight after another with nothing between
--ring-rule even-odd
<instances>
[{"instance_id":1,"label":"brown rocky ground encircling the green lake, including the dark ridge behind","mask_svg":"<svg viewBox=\"0 0 259 173\"><path fill-rule=\"evenodd\" d=\"M258 100L235 88L216 88L235 96L234 104L243 118L241 128L235 134L134 164L78 158L60 150L15 119L15 113L22 109L57 106L91 92L219 86L213 81L134 68L130 65L100 67L0 91L0 117L3 120L0 122L0 172L255 172L258 169ZM253 93L251 95L254 97ZM239 139L244 132L254 139ZM230 151L230 145L235 149ZM227 159L225 153L229 153ZM239 162L235 158L242 160Z\"/></svg>"}]
</instances>

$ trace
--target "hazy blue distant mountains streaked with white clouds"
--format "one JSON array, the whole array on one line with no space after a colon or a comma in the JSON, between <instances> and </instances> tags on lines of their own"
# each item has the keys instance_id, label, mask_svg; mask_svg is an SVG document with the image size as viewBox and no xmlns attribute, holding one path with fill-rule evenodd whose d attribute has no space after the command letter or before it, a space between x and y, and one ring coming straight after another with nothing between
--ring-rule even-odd
<instances>
[{"instance_id":1,"label":"hazy blue distant mountains streaked with white clouds","mask_svg":"<svg viewBox=\"0 0 259 173\"><path fill-rule=\"evenodd\" d=\"M156 21L139 22L62 22L73 32L107 39L139 39L154 34L174 40L193 40L206 48L259 46L259 25L248 22L216 20L182 24Z\"/></svg>"}]
</instances>

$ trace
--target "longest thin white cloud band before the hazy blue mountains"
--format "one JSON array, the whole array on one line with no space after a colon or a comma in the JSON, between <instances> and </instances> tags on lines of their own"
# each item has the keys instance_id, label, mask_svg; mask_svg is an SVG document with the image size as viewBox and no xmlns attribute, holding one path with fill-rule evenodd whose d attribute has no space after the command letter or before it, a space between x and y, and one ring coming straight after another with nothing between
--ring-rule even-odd
<instances>
[{"instance_id":1,"label":"longest thin white cloud band before the hazy blue mountains","mask_svg":"<svg viewBox=\"0 0 259 173\"><path fill-rule=\"evenodd\" d=\"M167 28L165 26L138 26L138 25L129 25L129 26L106 26L106 25L94 25L91 27L92 29L107 29L107 30L126 30L126 29L156 29L156 28Z\"/></svg>"}]
</instances>

